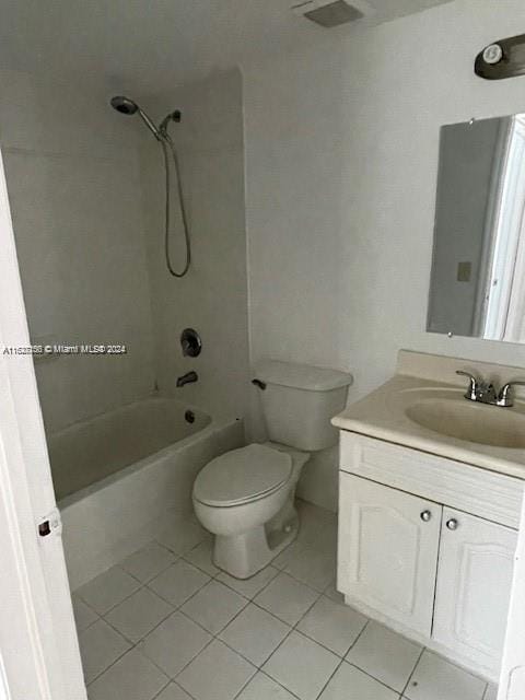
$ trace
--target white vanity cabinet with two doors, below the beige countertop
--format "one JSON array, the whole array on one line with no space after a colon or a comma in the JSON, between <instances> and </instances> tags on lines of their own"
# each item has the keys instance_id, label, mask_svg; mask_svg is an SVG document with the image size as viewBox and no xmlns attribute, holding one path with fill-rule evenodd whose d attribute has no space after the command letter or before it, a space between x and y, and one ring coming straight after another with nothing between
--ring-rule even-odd
<instances>
[{"instance_id":1,"label":"white vanity cabinet with two doors, below the beige countertop","mask_svg":"<svg viewBox=\"0 0 525 700\"><path fill-rule=\"evenodd\" d=\"M338 590L497 678L523 482L341 432Z\"/></svg>"}]
</instances>

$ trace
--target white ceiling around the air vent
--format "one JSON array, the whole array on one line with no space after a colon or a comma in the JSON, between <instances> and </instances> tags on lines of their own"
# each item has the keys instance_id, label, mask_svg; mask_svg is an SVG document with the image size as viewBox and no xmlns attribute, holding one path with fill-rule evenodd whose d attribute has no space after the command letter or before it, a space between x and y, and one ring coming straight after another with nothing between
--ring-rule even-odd
<instances>
[{"instance_id":1,"label":"white ceiling around the air vent","mask_svg":"<svg viewBox=\"0 0 525 700\"><path fill-rule=\"evenodd\" d=\"M2 0L0 67L154 93L324 30L298 0ZM451 0L368 0L389 21ZM357 26L357 25L355 25Z\"/></svg>"}]
</instances>

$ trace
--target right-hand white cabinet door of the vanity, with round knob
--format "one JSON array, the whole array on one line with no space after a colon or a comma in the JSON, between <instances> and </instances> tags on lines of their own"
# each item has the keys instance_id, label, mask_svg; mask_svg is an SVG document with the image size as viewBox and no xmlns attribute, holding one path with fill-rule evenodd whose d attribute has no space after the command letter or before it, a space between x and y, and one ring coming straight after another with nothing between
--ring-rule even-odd
<instances>
[{"instance_id":1,"label":"right-hand white cabinet door of the vanity, with round knob","mask_svg":"<svg viewBox=\"0 0 525 700\"><path fill-rule=\"evenodd\" d=\"M499 674L517 533L444 509L432 637Z\"/></svg>"}]
</instances>

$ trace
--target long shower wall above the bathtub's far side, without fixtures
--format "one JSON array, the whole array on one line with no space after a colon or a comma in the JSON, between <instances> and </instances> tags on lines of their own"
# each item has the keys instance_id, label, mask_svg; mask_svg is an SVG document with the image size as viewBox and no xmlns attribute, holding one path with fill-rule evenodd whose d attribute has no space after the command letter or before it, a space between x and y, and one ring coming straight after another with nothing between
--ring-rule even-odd
<instances>
[{"instance_id":1,"label":"long shower wall above the bathtub's far side, without fixtures","mask_svg":"<svg viewBox=\"0 0 525 700\"><path fill-rule=\"evenodd\" d=\"M33 341L128 348L36 363L51 431L154 384L137 135L107 96L0 71L0 142Z\"/></svg>"}]
</instances>

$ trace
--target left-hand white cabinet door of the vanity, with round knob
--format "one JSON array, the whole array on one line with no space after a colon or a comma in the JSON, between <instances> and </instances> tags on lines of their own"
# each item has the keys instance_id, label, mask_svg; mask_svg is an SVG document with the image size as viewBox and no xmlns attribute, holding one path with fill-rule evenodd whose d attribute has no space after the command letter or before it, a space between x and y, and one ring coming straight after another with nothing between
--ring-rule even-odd
<instances>
[{"instance_id":1,"label":"left-hand white cabinet door of the vanity, with round knob","mask_svg":"<svg viewBox=\"0 0 525 700\"><path fill-rule=\"evenodd\" d=\"M442 506L340 472L338 588L430 635Z\"/></svg>"}]
</instances>

